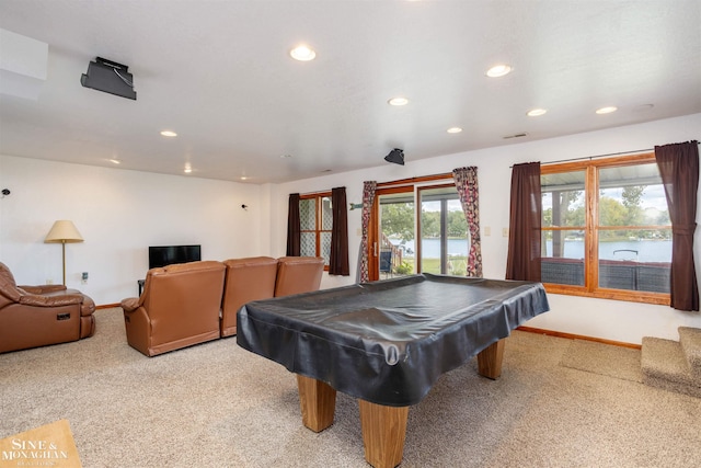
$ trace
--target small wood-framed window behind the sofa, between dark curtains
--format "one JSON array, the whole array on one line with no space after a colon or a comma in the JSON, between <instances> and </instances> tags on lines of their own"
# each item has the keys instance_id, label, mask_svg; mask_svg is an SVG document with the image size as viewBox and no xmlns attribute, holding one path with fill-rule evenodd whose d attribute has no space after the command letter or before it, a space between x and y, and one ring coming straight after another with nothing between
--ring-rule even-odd
<instances>
[{"instance_id":1,"label":"small wood-framed window behind the sofa, between dark curtains","mask_svg":"<svg viewBox=\"0 0 701 468\"><path fill-rule=\"evenodd\" d=\"M299 197L300 255L323 256L324 269L331 258L333 210L331 192Z\"/></svg>"}]
</instances>

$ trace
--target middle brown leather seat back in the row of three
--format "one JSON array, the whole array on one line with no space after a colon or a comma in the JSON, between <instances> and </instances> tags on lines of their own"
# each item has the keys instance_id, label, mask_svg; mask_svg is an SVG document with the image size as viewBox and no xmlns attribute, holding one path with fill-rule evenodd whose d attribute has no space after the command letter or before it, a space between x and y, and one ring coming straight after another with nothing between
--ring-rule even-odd
<instances>
[{"instance_id":1,"label":"middle brown leather seat back in the row of three","mask_svg":"<svg viewBox=\"0 0 701 468\"><path fill-rule=\"evenodd\" d=\"M237 312L251 300L275 296L277 260L271 256L225 260L227 279L221 301L221 338L237 334Z\"/></svg>"}]
</instances>

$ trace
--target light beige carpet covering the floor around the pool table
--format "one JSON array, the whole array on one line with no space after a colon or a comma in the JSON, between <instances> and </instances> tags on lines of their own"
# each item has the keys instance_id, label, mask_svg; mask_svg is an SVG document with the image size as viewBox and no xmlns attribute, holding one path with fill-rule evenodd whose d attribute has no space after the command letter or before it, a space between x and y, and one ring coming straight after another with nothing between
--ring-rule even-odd
<instances>
[{"instance_id":1,"label":"light beige carpet covering the floor around the pool table","mask_svg":"<svg viewBox=\"0 0 701 468\"><path fill-rule=\"evenodd\" d=\"M357 401L301 424L296 379L235 339L148 358L119 309L74 343L0 355L0 438L67 419L85 468L367 467ZM701 399L560 365L572 341L514 332L411 408L402 467L701 466Z\"/></svg>"}]
</instances>

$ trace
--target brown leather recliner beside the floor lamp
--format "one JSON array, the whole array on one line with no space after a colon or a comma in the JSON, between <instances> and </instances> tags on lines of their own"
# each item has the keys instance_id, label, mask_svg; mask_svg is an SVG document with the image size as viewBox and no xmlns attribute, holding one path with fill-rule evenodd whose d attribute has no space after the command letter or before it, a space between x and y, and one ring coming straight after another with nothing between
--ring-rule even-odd
<instances>
[{"instance_id":1,"label":"brown leather recliner beside the floor lamp","mask_svg":"<svg viewBox=\"0 0 701 468\"><path fill-rule=\"evenodd\" d=\"M64 285L18 286L0 262L0 353L92 336L94 311L90 297Z\"/></svg>"}]
</instances>

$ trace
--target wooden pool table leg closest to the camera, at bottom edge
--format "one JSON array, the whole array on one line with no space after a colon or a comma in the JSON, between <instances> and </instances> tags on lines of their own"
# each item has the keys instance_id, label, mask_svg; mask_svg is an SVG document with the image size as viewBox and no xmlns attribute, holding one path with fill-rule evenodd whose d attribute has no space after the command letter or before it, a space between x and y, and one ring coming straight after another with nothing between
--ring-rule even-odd
<instances>
[{"instance_id":1,"label":"wooden pool table leg closest to the camera, at bottom edge","mask_svg":"<svg viewBox=\"0 0 701 468\"><path fill-rule=\"evenodd\" d=\"M386 407L358 400L365 460L375 468L394 468L402 463L409 407Z\"/></svg>"}]
</instances>

